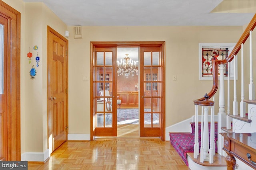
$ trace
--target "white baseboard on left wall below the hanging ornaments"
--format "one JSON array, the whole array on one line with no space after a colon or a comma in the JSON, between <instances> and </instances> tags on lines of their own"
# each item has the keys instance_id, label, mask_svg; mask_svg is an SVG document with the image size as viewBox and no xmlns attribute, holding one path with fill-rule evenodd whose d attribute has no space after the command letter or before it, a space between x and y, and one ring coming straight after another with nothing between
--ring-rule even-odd
<instances>
[{"instance_id":1,"label":"white baseboard on left wall below the hanging ornaments","mask_svg":"<svg viewBox=\"0 0 256 170\"><path fill-rule=\"evenodd\" d=\"M45 162L50 157L50 150L45 152L25 152L21 154L22 161Z\"/></svg>"}]
</instances>

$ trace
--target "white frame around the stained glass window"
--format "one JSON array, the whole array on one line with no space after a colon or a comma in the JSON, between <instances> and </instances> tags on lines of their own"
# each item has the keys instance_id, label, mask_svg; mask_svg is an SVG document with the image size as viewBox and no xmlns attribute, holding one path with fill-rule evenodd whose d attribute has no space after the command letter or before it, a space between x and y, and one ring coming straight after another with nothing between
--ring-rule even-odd
<instances>
[{"instance_id":1,"label":"white frame around the stained glass window","mask_svg":"<svg viewBox=\"0 0 256 170\"><path fill-rule=\"evenodd\" d=\"M199 43L199 80L212 80L212 77L202 77L202 48L229 48L230 55L231 51L234 49L236 43ZM233 68L233 61L230 62L230 80L234 80L234 68ZM237 68L237 57L236 57L236 68ZM236 69L237 73L237 69ZM236 74L236 80L238 76ZM227 80L228 77L224 77L224 80Z\"/></svg>"}]
</instances>

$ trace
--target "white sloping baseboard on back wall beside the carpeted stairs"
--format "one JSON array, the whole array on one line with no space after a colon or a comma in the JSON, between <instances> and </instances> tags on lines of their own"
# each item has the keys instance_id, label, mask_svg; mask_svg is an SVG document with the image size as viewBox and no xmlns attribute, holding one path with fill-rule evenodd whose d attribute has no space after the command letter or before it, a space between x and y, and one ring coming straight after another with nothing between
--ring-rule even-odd
<instances>
[{"instance_id":1,"label":"white sloping baseboard on back wall beside the carpeted stairs","mask_svg":"<svg viewBox=\"0 0 256 170\"><path fill-rule=\"evenodd\" d=\"M210 121L210 115L208 115L208 120ZM192 116L184 121L171 125L165 128L165 140L170 141L169 132L192 132L191 122L195 121L195 116ZM201 121L201 115L198 116L198 121ZM214 121L218 121L218 115L214 115Z\"/></svg>"}]
</instances>

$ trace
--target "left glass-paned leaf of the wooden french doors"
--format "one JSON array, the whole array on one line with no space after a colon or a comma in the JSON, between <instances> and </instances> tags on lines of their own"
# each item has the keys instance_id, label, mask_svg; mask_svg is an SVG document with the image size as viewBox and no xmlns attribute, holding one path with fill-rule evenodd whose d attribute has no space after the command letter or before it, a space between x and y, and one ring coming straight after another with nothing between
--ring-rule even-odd
<instances>
[{"instance_id":1,"label":"left glass-paned leaf of the wooden french doors","mask_svg":"<svg viewBox=\"0 0 256 170\"><path fill-rule=\"evenodd\" d=\"M95 47L94 61L94 135L116 136L116 47Z\"/></svg>"}]
</instances>

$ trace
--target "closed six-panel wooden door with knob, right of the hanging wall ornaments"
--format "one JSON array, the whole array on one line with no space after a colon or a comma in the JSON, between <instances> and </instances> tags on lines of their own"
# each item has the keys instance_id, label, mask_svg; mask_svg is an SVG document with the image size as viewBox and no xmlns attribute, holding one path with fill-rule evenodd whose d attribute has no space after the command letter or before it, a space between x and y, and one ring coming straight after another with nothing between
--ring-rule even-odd
<instances>
[{"instance_id":1,"label":"closed six-panel wooden door with knob, right of the hanging wall ornaments","mask_svg":"<svg viewBox=\"0 0 256 170\"><path fill-rule=\"evenodd\" d=\"M48 27L48 147L50 153L68 135L68 40Z\"/></svg>"}]
</instances>

